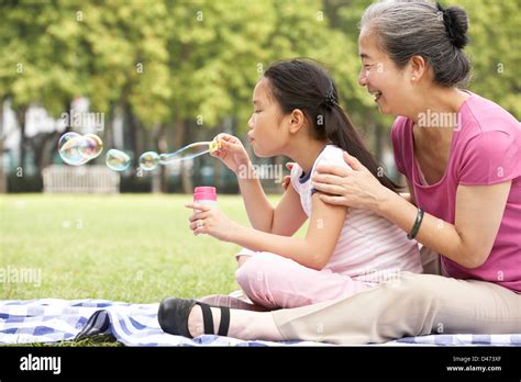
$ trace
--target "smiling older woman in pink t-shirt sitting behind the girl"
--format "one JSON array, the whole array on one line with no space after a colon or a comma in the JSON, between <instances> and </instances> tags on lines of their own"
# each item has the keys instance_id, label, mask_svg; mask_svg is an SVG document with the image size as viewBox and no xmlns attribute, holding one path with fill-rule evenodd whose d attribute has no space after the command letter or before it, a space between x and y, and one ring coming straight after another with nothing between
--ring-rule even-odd
<instances>
[{"instance_id":1,"label":"smiling older woman in pink t-shirt sitting behind the girl","mask_svg":"<svg viewBox=\"0 0 521 382\"><path fill-rule=\"evenodd\" d=\"M470 70L465 12L383 2L361 25L359 83L381 113L397 116L395 158L410 194L389 192L347 154L353 171L323 166L314 187L323 201L372 210L441 254L444 276L403 272L348 299L267 313L167 300L160 321L190 336L219 326L244 339L337 344L521 333L521 127L496 103L458 88Z\"/></svg>"}]
</instances>

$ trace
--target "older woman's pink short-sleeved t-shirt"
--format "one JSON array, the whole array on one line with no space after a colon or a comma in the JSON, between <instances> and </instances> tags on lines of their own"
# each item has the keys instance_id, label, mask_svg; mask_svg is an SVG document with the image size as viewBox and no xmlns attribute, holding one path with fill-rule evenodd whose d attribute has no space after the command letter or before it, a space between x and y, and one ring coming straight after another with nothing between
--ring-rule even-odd
<instances>
[{"instance_id":1,"label":"older woman's pink short-sleeved t-shirt","mask_svg":"<svg viewBox=\"0 0 521 382\"><path fill-rule=\"evenodd\" d=\"M498 104L477 94L459 108L448 165L434 184L422 183L414 158L413 122L399 116L391 130L398 170L410 181L415 202L426 213L454 224L456 191L463 186L512 181L496 241L478 268L465 268L442 255L446 276L486 280L521 292L521 125ZM417 127L419 128L419 127ZM429 127L420 127L429 128Z\"/></svg>"}]
</instances>

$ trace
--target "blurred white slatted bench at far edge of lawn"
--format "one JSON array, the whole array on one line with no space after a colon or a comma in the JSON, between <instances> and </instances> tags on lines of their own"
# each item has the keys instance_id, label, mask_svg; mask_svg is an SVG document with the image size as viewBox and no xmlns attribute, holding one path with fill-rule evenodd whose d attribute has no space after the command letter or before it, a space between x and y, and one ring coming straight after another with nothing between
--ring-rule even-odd
<instances>
[{"instance_id":1,"label":"blurred white slatted bench at far edge of lawn","mask_svg":"<svg viewBox=\"0 0 521 382\"><path fill-rule=\"evenodd\" d=\"M46 193L118 193L120 175L104 166L58 166L43 170Z\"/></svg>"}]
</instances>

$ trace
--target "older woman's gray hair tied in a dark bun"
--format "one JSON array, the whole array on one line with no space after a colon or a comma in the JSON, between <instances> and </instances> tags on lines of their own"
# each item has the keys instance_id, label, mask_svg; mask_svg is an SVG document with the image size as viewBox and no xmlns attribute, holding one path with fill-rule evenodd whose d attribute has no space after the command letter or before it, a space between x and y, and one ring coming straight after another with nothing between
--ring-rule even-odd
<instances>
[{"instance_id":1,"label":"older woman's gray hair tied in a dark bun","mask_svg":"<svg viewBox=\"0 0 521 382\"><path fill-rule=\"evenodd\" d=\"M362 29L376 34L379 47L399 68L412 56L421 56L437 85L468 81L470 61L463 52L468 43L468 18L458 7L442 9L422 0L377 2L364 12Z\"/></svg>"}]
</instances>

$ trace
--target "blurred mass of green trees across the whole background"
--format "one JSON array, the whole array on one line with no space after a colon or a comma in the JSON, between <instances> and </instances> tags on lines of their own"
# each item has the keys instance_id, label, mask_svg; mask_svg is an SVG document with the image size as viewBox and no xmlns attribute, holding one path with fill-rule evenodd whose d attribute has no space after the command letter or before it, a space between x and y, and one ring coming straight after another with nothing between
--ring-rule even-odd
<instances>
[{"instance_id":1,"label":"blurred mass of green trees across the whole background","mask_svg":"<svg viewBox=\"0 0 521 382\"><path fill-rule=\"evenodd\" d=\"M26 144L24 119L34 103L55 117L76 96L106 113L102 134L123 111L131 127L134 166L144 150L173 150L228 126L242 135L256 81L274 61L319 60L332 74L341 104L381 151L392 117L378 113L357 83L358 23L370 0L243 0L173 2L8 3L0 13L0 99L11 99L37 166L48 158L43 134ZM470 89L518 119L520 61L516 0L459 0L470 16ZM103 136L104 135L104 136ZM386 134L387 135L387 134ZM2 139L2 137L0 137ZM388 139L388 138L387 138ZM1 144L0 144L1 148ZM99 159L101 160L101 159ZM162 167L162 189L166 189ZM185 190L190 191L184 171ZM0 177L1 177L0 172ZM0 181L1 183L1 181Z\"/></svg>"}]
</instances>

